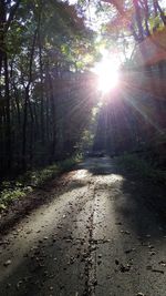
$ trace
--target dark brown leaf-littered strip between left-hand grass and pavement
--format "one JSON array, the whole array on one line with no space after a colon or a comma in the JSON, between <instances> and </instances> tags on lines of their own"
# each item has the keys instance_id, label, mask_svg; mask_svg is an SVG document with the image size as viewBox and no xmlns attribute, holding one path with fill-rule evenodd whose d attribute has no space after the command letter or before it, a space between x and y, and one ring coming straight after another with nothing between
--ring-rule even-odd
<instances>
[{"instance_id":1,"label":"dark brown leaf-littered strip between left-hand grass and pavement","mask_svg":"<svg viewBox=\"0 0 166 296\"><path fill-rule=\"evenodd\" d=\"M70 176L69 178L66 176L68 173L53 181L48 181L43 186L34 188L25 197L13 201L9 208L1 214L0 234L7 235L11 227L14 227L27 215L59 198L65 192L85 186L83 180L71 180Z\"/></svg>"}]
</instances>

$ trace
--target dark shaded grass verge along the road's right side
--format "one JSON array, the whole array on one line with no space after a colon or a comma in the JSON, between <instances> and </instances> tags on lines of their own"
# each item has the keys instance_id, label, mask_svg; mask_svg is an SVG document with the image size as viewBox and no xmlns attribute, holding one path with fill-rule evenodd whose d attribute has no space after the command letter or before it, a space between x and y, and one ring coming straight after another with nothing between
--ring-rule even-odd
<instances>
[{"instance_id":1,"label":"dark shaded grass verge along the road's right side","mask_svg":"<svg viewBox=\"0 0 166 296\"><path fill-rule=\"evenodd\" d=\"M138 177L151 180L153 183L166 184L166 171L154 167L152 163L136 154L124 154L118 156L116 162Z\"/></svg>"}]
</instances>

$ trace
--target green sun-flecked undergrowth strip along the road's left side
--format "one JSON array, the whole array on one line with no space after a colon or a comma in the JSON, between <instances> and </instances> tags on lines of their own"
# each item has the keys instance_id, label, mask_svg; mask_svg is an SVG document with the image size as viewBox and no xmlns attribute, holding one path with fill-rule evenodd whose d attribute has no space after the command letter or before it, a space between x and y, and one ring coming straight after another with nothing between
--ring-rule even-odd
<instances>
[{"instance_id":1,"label":"green sun-flecked undergrowth strip along the road's left side","mask_svg":"<svg viewBox=\"0 0 166 296\"><path fill-rule=\"evenodd\" d=\"M44 169L28 171L17 180L3 181L0 185L0 212L8 208L14 200L25 197L28 193L44 185L48 181L70 171L80 161L81 155L77 154Z\"/></svg>"}]
</instances>

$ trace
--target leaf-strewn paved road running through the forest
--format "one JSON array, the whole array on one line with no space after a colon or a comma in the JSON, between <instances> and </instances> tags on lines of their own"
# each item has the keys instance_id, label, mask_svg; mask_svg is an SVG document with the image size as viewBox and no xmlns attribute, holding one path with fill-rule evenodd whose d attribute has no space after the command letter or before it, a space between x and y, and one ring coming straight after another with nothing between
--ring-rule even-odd
<instances>
[{"instance_id":1,"label":"leaf-strewn paved road running through the forest","mask_svg":"<svg viewBox=\"0 0 166 296\"><path fill-rule=\"evenodd\" d=\"M166 229L136 181L108 157L61 181L1 238L0 295L166 296Z\"/></svg>"}]
</instances>

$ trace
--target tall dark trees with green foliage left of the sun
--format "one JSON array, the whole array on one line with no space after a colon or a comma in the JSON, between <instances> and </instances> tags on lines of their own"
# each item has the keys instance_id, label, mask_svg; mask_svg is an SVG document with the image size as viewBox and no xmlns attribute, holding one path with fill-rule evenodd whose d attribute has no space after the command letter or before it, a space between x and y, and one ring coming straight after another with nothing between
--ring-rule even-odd
<instances>
[{"instance_id":1,"label":"tall dark trees with green foliage left of the sun","mask_svg":"<svg viewBox=\"0 0 166 296\"><path fill-rule=\"evenodd\" d=\"M3 174L75 151L93 103L80 67L93 35L73 7L56 1L0 1L0 28Z\"/></svg>"}]
</instances>

